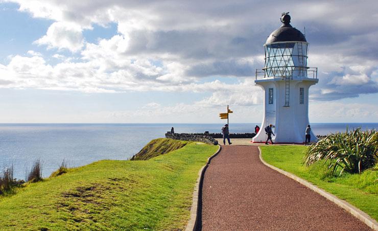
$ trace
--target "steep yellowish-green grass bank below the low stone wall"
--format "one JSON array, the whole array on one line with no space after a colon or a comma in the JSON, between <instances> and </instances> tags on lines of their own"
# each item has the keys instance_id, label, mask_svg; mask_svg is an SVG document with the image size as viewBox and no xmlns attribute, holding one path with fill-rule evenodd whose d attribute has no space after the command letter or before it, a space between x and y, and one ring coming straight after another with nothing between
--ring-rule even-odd
<instances>
[{"instance_id":1,"label":"steep yellowish-green grass bank below the low stone wall","mask_svg":"<svg viewBox=\"0 0 378 231\"><path fill-rule=\"evenodd\" d=\"M188 141L178 141L166 138L157 138L150 141L143 149L136 153L131 160L147 160L152 157L166 154L187 145Z\"/></svg>"}]
</instances>

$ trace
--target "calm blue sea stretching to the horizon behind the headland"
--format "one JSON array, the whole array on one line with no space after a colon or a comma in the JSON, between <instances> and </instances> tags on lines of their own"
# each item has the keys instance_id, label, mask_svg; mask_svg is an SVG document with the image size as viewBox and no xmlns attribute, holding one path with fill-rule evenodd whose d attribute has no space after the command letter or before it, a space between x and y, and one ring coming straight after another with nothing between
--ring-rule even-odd
<instances>
[{"instance_id":1,"label":"calm blue sea stretching to the horizon behind the headland","mask_svg":"<svg viewBox=\"0 0 378 231\"><path fill-rule=\"evenodd\" d=\"M15 177L25 179L33 161L43 162L43 176L58 169L63 159L69 167L101 159L128 159L154 138L175 132L220 132L223 124L0 124L0 168L14 165ZM231 133L253 132L255 123L230 124ZM312 124L317 135L378 123Z\"/></svg>"}]
</instances>

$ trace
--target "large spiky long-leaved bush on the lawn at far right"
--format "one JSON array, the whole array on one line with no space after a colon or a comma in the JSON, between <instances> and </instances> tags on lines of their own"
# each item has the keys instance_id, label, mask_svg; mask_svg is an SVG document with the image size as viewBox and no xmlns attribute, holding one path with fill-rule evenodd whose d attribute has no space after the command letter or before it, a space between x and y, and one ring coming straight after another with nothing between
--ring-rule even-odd
<instances>
[{"instance_id":1,"label":"large spiky long-leaved bush on the lawn at far right","mask_svg":"<svg viewBox=\"0 0 378 231\"><path fill-rule=\"evenodd\" d=\"M375 129L356 130L330 134L313 144L306 151L303 163L310 166L319 160L328 164L328 170L340 175L345 171L361 173L374 167L378 159L378 132Z\"/></svg>"}]
</instances>

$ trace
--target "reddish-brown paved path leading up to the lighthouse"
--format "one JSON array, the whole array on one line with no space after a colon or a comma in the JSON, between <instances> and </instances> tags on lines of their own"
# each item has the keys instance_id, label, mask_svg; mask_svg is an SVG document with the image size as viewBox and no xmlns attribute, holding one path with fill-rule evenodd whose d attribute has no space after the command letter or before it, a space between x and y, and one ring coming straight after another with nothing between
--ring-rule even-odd
<instances>
[{"instance_id":1,"label":"reddish-brown paved path leading up to the lighthouse","mask_svg":"<svg viewBox=\"0 0 378 231\"><path fill-rule=\"evenodd\" d=\"M263 165L256 146L222 146L211 160L200 219L202 230L370 230L333 202Z\"/></svg>"}]
</instances>

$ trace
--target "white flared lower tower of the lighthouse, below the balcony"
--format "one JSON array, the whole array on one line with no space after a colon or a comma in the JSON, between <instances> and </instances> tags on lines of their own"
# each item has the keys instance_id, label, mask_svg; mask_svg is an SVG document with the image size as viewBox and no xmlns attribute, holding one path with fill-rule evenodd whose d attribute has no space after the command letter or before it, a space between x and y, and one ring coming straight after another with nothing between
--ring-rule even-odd
<instances>
[{"instance_id":1,"label":"white flared lower tower of the lighthouse, below the balcony","mask_svg":"<svg viewBox=\"0 0 378 231\"><path fill-rule=\"evenodd\" d=\"M255 80L255 84L264 89L264 120L259 132L252 138L253 143L265 143L268 135L265 127L272 124L274 143L297 143L305 141L305 130L309 123L309 88L318 79L295 78L290 80L289 106L285 106L285 80L281 78L266 78ZM273 100L269 100L269 88ZM300 93L302 89L302 96ZM273 90L272 90L273 89ZM272 92L273 91L273 92ZM272 94L273 93L273 94ZM301 100L302 98L302 100ZM311 131L311 142L317 137Z\"/></svg>"}]
</instances>

